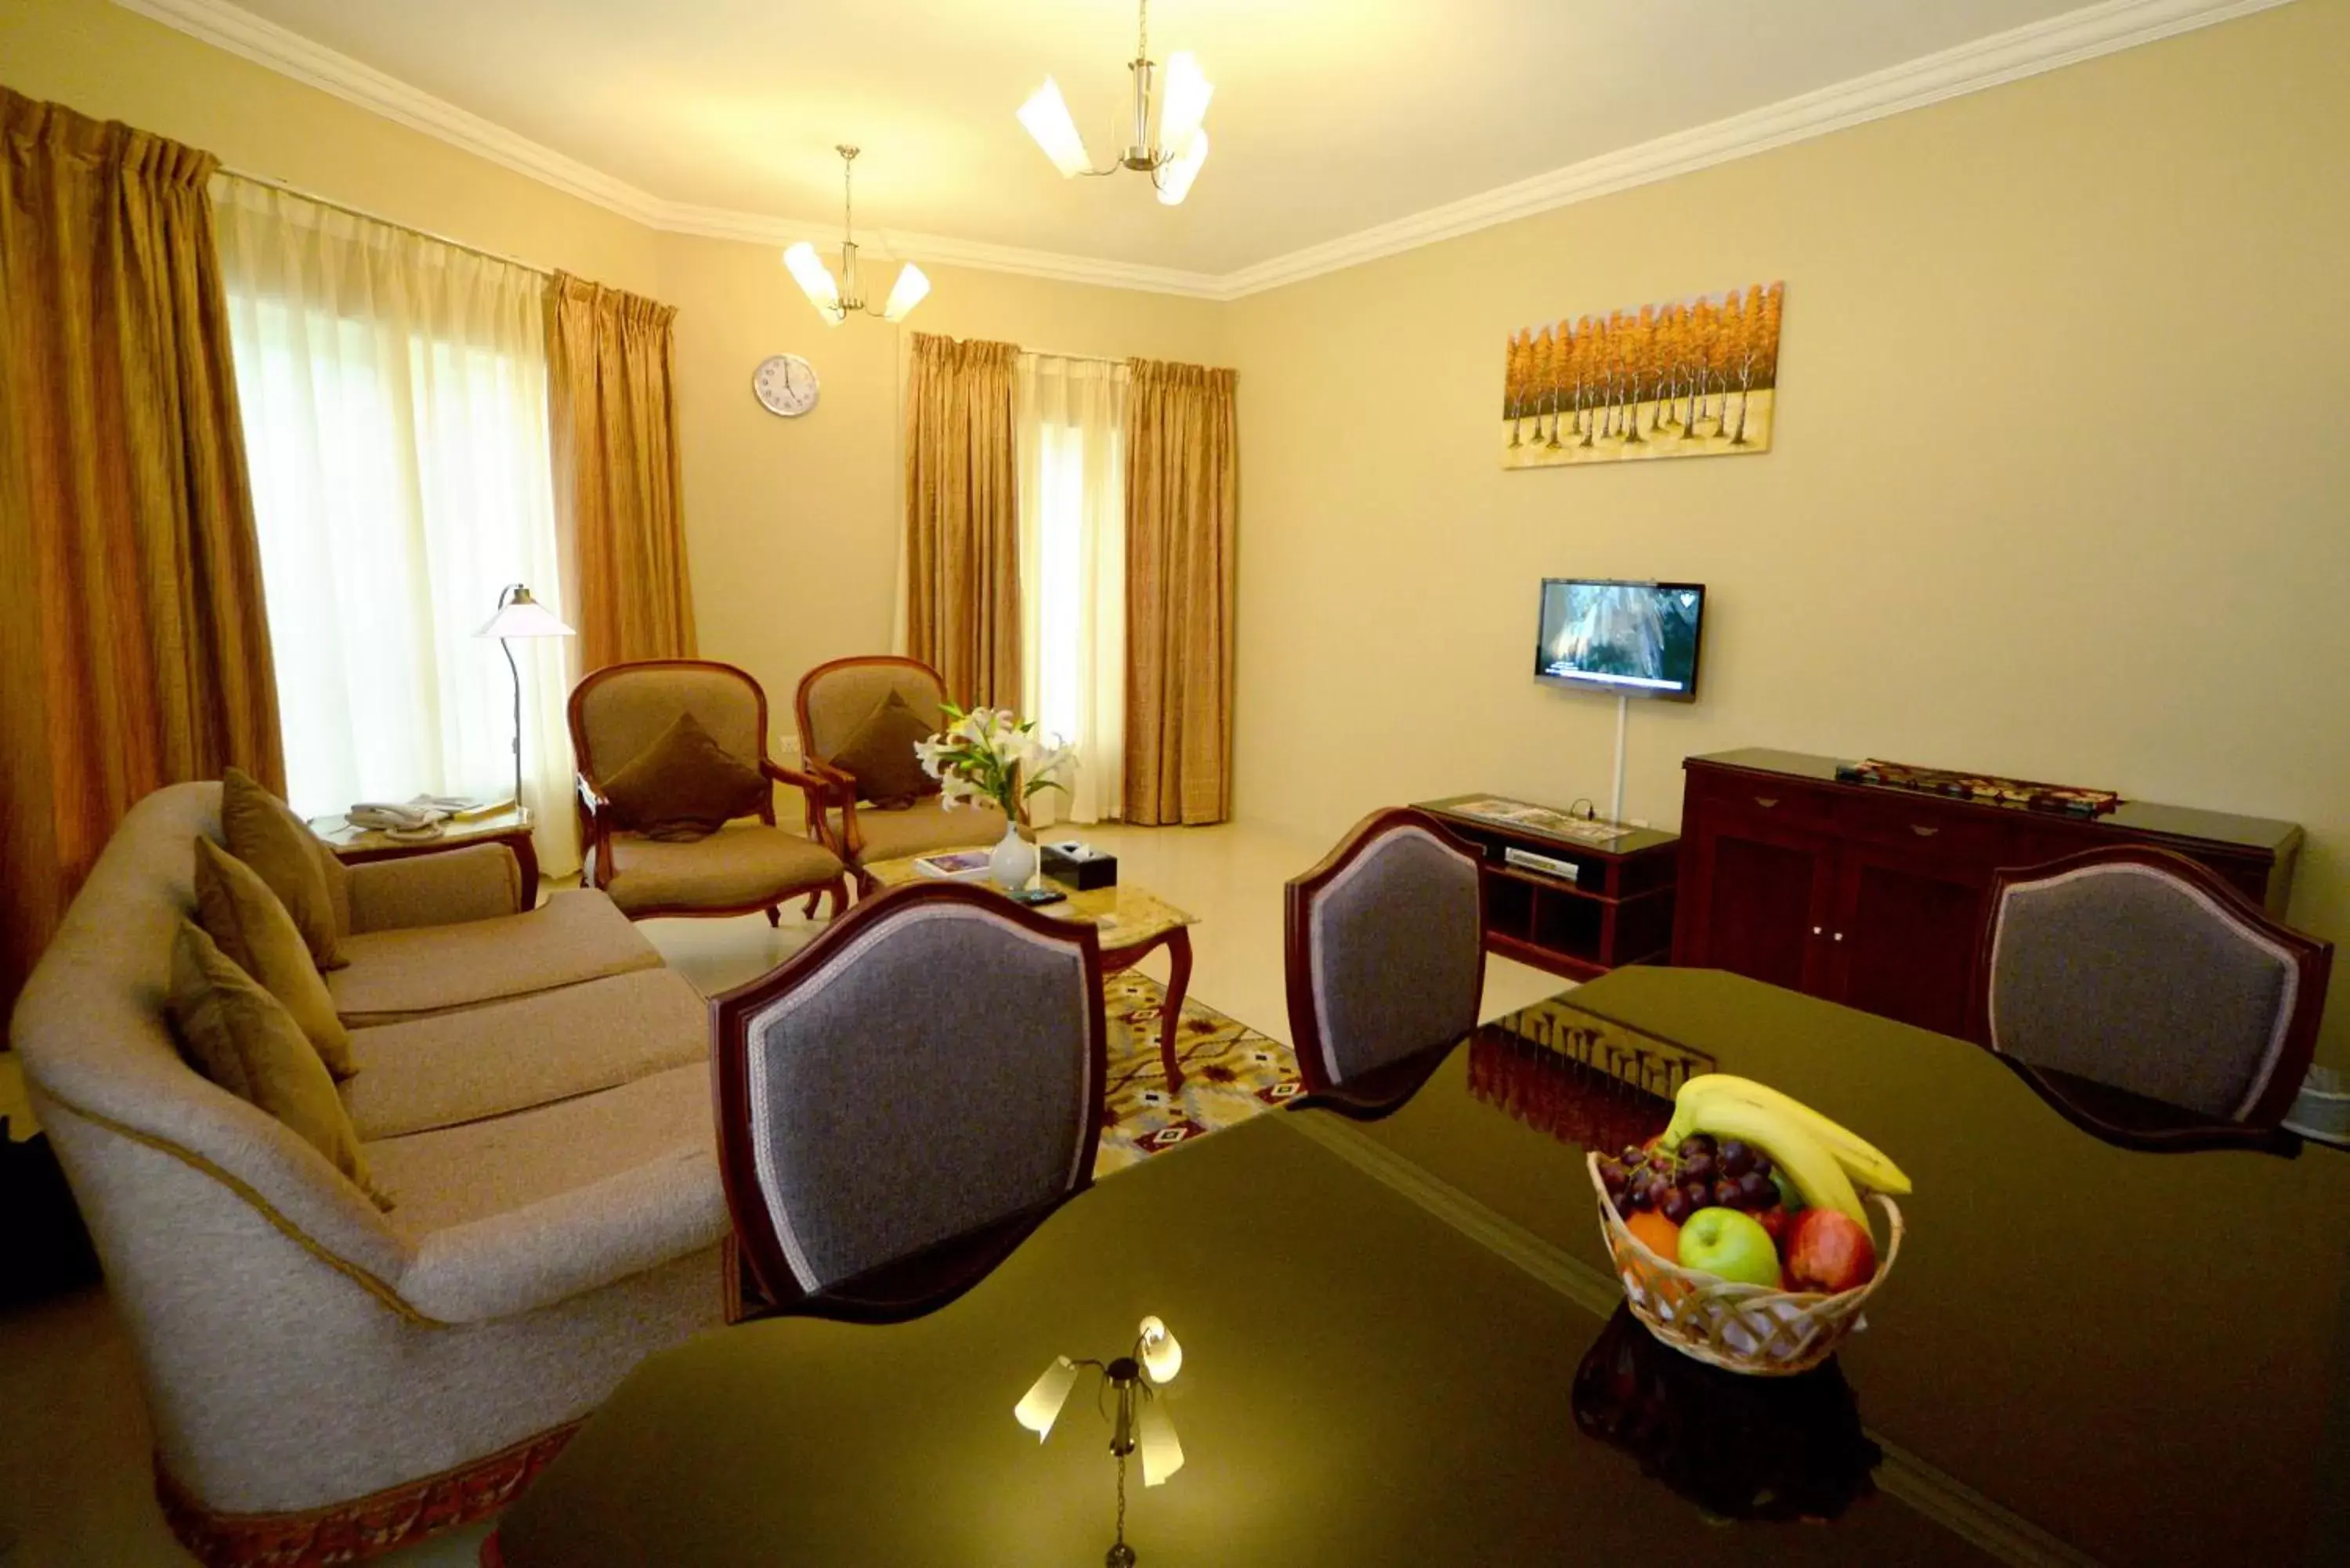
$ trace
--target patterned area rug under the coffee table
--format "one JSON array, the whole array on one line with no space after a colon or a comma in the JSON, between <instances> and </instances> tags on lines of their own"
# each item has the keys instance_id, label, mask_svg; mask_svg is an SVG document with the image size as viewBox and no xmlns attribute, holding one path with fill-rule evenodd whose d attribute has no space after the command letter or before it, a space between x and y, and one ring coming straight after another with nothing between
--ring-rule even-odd
<instances>
[{"instance_id":1,"label":"patterned area rug under the coffee table","mask_svg":"<svg viewBox=\"0 0 2350 1568\"><path fill-rule=\"evenodd\" d=\"M1297 1058L1288 1046L1191 997L1184 997L1175 1034L1182 1088L1168 1093L1159 1065L1166 992L1149 976L1126 971L1102 985L1102 1001L1109 1016L1109 1093L1095 1178L1297 1098Z\"/></svg>"}]
</instances>

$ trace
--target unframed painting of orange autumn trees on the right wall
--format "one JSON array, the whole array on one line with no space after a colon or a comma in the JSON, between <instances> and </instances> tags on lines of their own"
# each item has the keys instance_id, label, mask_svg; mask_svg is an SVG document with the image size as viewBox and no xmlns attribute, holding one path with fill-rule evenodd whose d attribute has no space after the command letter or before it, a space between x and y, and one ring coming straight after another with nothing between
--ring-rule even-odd
<instances>
[{"instance_id":1,"label":"unframed painting of orange autumn trees on the right wall","mask_svg":"<svg viewBox=\"0 0 2350 1568\"><path fill-rule=\"evenodd\" d=\"M1502 465L1770 451L1786 284L1509 334Z\"/></svg>"}]
</instances>

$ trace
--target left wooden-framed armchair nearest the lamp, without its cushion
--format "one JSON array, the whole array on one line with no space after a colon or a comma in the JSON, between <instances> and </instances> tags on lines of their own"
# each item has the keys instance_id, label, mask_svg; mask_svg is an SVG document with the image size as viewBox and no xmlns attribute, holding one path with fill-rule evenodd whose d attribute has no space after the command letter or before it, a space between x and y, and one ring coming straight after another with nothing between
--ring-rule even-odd
<instances>
[{"instance_id":1,"label":"left wooden-framed armchair nearest the lamp, without its cushion","mask_svg":"<svg viewBox=\"0 0 2350 1568\"><path fill-rule=\"evenodd\" d=\"M759 795L757 820L731 820L710 837L663 842L625 820L604 795L634 757L679 715L693 722L768 785L787 783L811 799L825 780L766 755L766 691L745 670L707 658L649 658L606 665L571 689L571 750L578 759L578 809L585 865L580 884L602 889L630 919L656 914L750 914L780 924L783 905L820 896L832 912L848 907L848 870L822 842L776 825L773 788Z\"/></svg>"}]
</instances>

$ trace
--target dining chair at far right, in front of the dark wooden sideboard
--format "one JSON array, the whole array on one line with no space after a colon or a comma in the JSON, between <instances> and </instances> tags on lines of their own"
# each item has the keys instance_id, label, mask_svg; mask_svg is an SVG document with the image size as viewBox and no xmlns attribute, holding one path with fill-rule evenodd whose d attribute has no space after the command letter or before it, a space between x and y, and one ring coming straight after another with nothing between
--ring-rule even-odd
<instances>
[{"instance_id":1,"label":"dining chair at far right, in front of the dark wooden sideboard","mask_svg":"<svg viewBox=\"0 0 2350 1568\"><path fill-rule=\"evenodd\" d=\"M2044 1070L2059 1110L2134 1147L2211 1147L2275 1128L2308 1072L2334 945L2272 919L2214 870L2150 846L1993 872L1974 1037ZM2066 1093L2068 1081L2089 1088ZM2188 1112L2131 1135L2096 1086Z\"/></svg>"}]
</instances>

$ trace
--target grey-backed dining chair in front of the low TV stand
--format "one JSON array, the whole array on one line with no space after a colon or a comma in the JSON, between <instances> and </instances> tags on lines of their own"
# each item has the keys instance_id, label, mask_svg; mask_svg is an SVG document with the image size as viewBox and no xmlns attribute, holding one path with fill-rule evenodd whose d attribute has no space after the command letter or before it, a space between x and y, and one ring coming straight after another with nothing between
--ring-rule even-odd
<instances>
[{"instance_id":1,"label":"grey-backed dining chair in front of the low TV stand","mask_svg":"<svg viewBox=\"0 0 2350 1568\"><path fill-rule=\"evenodd\" d=\"M1478 853L1426 811L1389 806L1285 893L1304 1103L1384 1117L1476 1027L1485 990Z\"/></svg>"}]
</instances>

